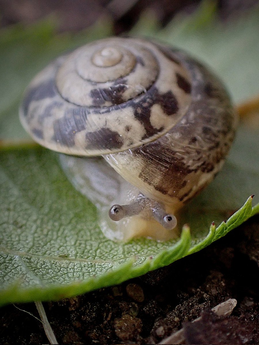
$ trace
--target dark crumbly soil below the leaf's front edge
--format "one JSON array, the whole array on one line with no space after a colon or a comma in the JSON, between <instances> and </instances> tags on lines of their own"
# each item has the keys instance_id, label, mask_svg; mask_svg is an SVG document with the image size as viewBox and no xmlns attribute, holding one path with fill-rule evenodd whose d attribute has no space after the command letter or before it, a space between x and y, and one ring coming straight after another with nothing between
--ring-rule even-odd
<instances>
[{"instance_id":1,"label":"dark crumbly soil below the leaf's front edge","mask_svg":"<svg viewBox=\"0 0 259 345\"><path fill-rule=\"evenodd\" d=\"M43 303L58 343L157 344L183 327L186 344L259 344L258 224L255 216L200 252L123 284ZM228 298L237 306L218 319L210 309ZM16 306L38 317L35 304ZM1 309L1 344L48 343L41 323L16 306Z\"/></svg>"}]
</instances>

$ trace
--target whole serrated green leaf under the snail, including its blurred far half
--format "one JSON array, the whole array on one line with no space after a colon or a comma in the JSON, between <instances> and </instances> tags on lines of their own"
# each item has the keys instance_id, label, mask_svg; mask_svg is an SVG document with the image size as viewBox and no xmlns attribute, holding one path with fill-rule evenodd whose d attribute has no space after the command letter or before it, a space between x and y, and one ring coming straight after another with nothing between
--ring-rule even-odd
<instances>
[{"instance_id":1,"label":"whole serrated green leaf under the snail, including its blurred far half","mask_svg":"<svg viewBox=\"0 0 259 345\"><path fill-rule=\"evenodd\" d=\"M206 60L240 101L259 89L256 16L257 9L247 14L245 25L242 17L222 27L214 4L207 2L192 17L176 18L160 31L155 21L145 31L143 17L135 33L148 32ZM1 138L25 138L18 103L38 70L59 53L110 33L111 25L103 23L76 36L57 35L51 21L2 30ZM95 206L71 186L56 154L37 146L0 148L0 303L59 299L121 283L226 235L259 212L249 197L255 194L253 203L259 200L257 145L258 127L241 126L223 170L183 209L180 239L126 244L104 237Z\"/></svg>"}]
</instances>

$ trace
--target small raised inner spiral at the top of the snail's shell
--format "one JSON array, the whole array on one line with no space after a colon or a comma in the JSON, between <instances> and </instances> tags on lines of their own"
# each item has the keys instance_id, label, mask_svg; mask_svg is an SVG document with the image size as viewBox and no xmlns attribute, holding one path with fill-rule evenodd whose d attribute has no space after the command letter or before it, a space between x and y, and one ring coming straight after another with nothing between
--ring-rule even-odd
<instances>
[{"instance_id":1,"label":"small raised inner spiral at the top of the snail's shell","mask_svg":"<svg viewBox=\"0 0 259 345\"><path fill-rule=\"evenodd\" d=\"M69 55L56 76L57 88L64 99L78 106L111 107L153 85L159 65L151 51L139 45L126 49L114 41L86 45ZM121 97L115 100L118 91Z\"/></svg>"}]
</instances>

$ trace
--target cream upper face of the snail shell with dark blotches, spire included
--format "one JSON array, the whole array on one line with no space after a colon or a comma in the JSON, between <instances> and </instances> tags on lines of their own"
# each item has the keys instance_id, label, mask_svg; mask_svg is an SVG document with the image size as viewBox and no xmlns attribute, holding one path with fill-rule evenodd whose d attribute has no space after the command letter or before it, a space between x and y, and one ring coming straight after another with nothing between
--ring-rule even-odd
<instances>
[{"instance_id":1,"label":"cream upper face of the snail shell with dark blotches, spire included","mask_svg":"<svg viewBox=\"0 0 259 345\"><path fill-rule=\"evenodd\" d=\"M111 38L52 62L31 82L20 108L41 145L103 155L156 140L191 103L190 73L157 45Z\"/></svg>"}]
</instances>

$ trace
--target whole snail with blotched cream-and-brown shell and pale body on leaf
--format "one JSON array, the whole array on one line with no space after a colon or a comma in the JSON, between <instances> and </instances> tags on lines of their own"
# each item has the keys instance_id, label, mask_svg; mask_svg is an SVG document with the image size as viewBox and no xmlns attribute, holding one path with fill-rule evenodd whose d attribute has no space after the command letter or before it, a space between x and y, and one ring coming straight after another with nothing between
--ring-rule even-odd
<instances>
[{"instance_id":1,"label":"whole snail with blotched cream-and-brown shell and pale body on leaf","mask_svg":"<svg viewBox=\"0 0 259 345\"><path fill-rule=\"evenodd\" d=\"M117 37L50 63L28 86L20 120L63 154L114 240L174 237L179 210L222 168L238 122L228 92L200 62Z\"/></svg>"}]
</instances>

